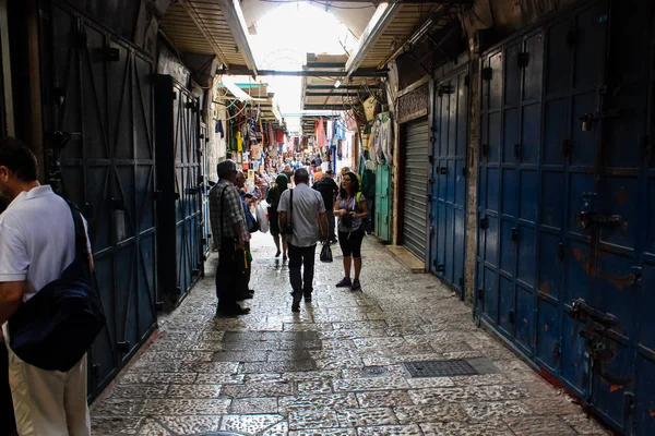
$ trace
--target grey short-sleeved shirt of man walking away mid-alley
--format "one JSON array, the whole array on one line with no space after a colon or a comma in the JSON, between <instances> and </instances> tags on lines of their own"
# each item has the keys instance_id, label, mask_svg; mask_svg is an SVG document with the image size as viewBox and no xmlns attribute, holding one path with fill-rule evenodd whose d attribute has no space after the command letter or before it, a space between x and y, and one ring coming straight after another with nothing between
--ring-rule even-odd
<instances>
[{"instance_id":1,"label":"grey short-sleeved shirt of man walking away mid-alley","mask_svg":"<svg viewBox=\"0 0 655 436\"><path fill-rule=\"evenodd\" d=\"M325 213L323 197L318 191L312 190L305 183L298 183L294 191L294 208L290 211L294 234L288 242L295 246L315 245L321 239L320 214ZM277 211L287 213L289 220L289 197L291 190L286 190L279 197Z\"/></svg>"}]
</instances>

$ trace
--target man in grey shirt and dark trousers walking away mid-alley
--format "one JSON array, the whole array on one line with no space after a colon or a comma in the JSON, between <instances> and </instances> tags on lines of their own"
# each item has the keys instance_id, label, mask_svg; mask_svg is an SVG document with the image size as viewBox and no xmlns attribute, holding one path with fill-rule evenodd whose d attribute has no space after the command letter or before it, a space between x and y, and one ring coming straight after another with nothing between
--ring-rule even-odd
<instances>
[{"instance_id":1,"label":"man in grey shirt and dark trousers walking away mid-alley","mask_svg":"<svg viewBox=\"0 0 655 436\"><path fill-rule=\"evenodd\" d=\"M300 312L300 301L311 302L313 291L313 268L317 253L317 241L327 238L327 219L325 205L319 192L310 189L309 173L306 169L296 170L294 190L286 190L279 198L279 228L285 229L287 219L293 228L287 234L289 246L289 281L294 292L291 312ZM293 201L291 201L293 192ZM305 267L303 277L300 267Z\"/></svg>"}]
</instances>

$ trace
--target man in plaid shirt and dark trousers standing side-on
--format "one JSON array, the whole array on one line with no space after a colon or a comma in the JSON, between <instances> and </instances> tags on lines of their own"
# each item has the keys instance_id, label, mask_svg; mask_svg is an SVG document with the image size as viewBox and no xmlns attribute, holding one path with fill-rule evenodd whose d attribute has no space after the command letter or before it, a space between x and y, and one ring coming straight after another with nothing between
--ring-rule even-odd
<instances>
[{"instance_id":1,"label":"man in plaid shirt and dark trousers standing side-on","mask_svg":"<svg viewBox=\"0 0 655 436\"><path fill-rule=\"evenodd\" d=\"M240 275L247 268L246 243L250 233L241 206L241 196L237 191L237 165L234 160L224 160L217 166L218 183L210 191L210 219L214 243L218 247L218 267L216 268L216 315L246 315L249 307L237 303L239 298Z\"/></svg>"}]
</instances>

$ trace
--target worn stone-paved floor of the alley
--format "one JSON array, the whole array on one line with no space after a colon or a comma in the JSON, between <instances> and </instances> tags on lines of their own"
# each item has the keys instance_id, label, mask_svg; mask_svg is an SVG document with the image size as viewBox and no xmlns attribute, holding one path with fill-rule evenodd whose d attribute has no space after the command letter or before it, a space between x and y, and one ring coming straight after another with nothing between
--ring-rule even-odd
<instances>
[{"instance_id":1,"label":"worn stone-paved floor of the alley","mask_svg":"<svg viewBox=\"0 0 655 436\"><path fill-rule=\"evenodd\" d=\"M476 328L471 307L437 278L410 274L373 237L364 292L334 287L333 245L333 264L317 255L313 302L299 314L271 237L257 234L252 246L251 314L215 319L207 274L94 403L95 435L609 434ZM413 378L403 365L455 359L483 374Z\"/></svg>"}]
</instances>

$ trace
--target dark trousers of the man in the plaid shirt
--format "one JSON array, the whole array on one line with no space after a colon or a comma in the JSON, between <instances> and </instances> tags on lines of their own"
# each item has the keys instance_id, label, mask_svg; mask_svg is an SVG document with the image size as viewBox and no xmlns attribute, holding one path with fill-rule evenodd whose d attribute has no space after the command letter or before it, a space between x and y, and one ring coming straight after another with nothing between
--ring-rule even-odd
<instances>
[{"instance_id":1,"label":"dark trousers of the man in the plaid shirt","mask_svg":"<svg viewBox=\"0 0 655 436\"><path fill-rule=\"evenodd\" d=\"M237 306L246 280L247 269L243 265L243 253L236 251L235 247L236 243L233 239L221 240L218 267L216 268L216 298L218 307L223 310L231 310Z\"/></svg>"}]
</instances>

